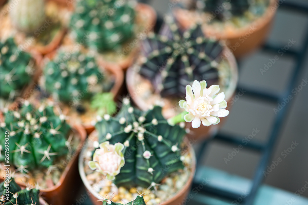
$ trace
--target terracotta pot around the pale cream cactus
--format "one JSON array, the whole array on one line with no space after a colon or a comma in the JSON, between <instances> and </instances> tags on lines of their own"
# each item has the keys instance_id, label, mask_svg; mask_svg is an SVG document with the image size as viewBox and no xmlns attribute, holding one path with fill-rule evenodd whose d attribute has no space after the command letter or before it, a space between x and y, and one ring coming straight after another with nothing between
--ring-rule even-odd
<instances>
[{"instance_id":1,"label":"terracotta pot around the pale cream cactus","mask_svg":"<svg viewBox=\"0 0 308 205\"><path fill-rule=\"evenodd\" d=\"M0 2L1 5L1 2ZM3 9L6 10L8 5L4 5ZM53 13L53 16L57 16L59 13L62 15L65 15L65 13L67 13L67 11L69 10L66 6L63 6L63 4L57 4L54 0L49 0L47 2L46 5L46 12L47 14ZM56 13L55 15L55 11L59 12ZM52 17L49 17L52 18ZM2 12L2 14L0 15L0 19L2 21L2 23L0 23L0 25L5 28L3 29L3 32L0 32L0 38L6 38L8 37L8 35L14 35L15 41L20 45L23 46L23 48L26 51L32 51L34 50L35 52L41 53L42 55L45 55L47 53L52 52L53 50L55 50L59 44L61 43L64 35L67 32L67 28L65 26L62 26L62 28L60 28L57 33L55 34L54 38L47 44L47 45L42 45L39 44L37 42L34 42L34 39L36 38L36 35L38 34L34 34L32 37L31 36L27 36L25 33L20 32L18 30L16 30L10 20L10 17L8 15L8 13L6 12ZM61 24L64 24L63 22L63 17L61 16L60 18ZM31 43L27 43L31 41Z\"/></svg>"}]
</instances>

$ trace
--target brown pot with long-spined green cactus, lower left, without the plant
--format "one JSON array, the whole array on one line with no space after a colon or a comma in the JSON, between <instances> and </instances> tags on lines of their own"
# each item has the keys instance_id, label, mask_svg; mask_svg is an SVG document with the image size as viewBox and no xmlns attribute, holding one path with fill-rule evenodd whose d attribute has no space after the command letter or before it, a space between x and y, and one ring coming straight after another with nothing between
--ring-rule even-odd
<instances>
[{"instance_id":1,"label":"brown pot with long-spined green cactus, lower left, without the plant","mask_svg":"<svg viewBox=\"0 0 308 205\"><path fill-rule=\"evenodd\" d=\"M75 124L73 127L78 132L78 137L80 138L80 143L75 151L75 155L64 169L59 182L53 187L40 190L42 197L46 199L49 204L72 204L75 198L75 193L79 189L80 178L77 171L78 156L86 140L87 133L82 126ZM0 179L3 180L3 177L1 176ZM18 185L20 187L25 187L24 183L18 183Z\"/></svg>"}]
</instances>

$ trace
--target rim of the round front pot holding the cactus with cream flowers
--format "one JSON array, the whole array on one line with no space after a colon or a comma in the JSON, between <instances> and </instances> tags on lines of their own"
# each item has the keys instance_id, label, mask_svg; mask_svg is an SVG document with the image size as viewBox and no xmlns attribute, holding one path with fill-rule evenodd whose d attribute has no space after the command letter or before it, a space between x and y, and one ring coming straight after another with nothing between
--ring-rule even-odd
<instances>
[{"instance_id":1,"label":"rim of the round front pot holding the cactus with cream flowers","mask_svg":"<svg viewBox=\"0 0 308 205\"><path fill-rule=\"evenodd\" d=\"M79 170L80 178L81 178L84 186L86 187L86 189L93 196L95 196L95 198L99 199L100 198L99 194L96 193L95 191L93 191L93 189L91 188L91 185L90 185L89 181L87 180L86 174L85 174L84 169L83 169L83 156L85 154L85 151L86 151L86 148L87 148L87 144L89 142L89 139L91 139L91 136L95 135L96 133L97 133L96 130L91 132L91 134L89 135L87 141L84 143L83 149L81 150L80 155L79 155L78 170ZM188 143L188 141L189 141L188 138L185 136L183 142ZM192 156L192 170L191 170L191 173L190 173L190 175L189 175L189 177L187 179L187 182L184 184L184 186L178 192L176 192L175 195L173 195L171 198L167 199L166 201L160 203L160 205L166 205L166 204L172 203L172 201L174 201L174 199L177 199L177 198L180 198L181 196L183 196L185 191L187 191L190 188L191 183L193 181L193 177L194 177L194 175L196 173L197 159L196 159L195 150L193 149L192 146L189 147L189 152L190 152L190 154Z\"/></svg>"}]
</instances>

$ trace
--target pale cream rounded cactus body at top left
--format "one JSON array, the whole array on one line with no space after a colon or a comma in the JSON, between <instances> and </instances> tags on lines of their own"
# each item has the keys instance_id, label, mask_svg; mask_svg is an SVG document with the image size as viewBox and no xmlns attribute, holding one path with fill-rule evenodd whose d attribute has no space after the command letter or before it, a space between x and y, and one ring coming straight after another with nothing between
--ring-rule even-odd
<instances>
[{"instance_id":1,"label":"pale cream rounded cactus body at top left","mask_svg":"<svg viewBox=\"0 0 308 205\"><path fill-rule=\"evenodd\" d=\"M13 24L21 31L34 33L45 21L45 0L10 0Z\"/></svg>"}]
</instances>

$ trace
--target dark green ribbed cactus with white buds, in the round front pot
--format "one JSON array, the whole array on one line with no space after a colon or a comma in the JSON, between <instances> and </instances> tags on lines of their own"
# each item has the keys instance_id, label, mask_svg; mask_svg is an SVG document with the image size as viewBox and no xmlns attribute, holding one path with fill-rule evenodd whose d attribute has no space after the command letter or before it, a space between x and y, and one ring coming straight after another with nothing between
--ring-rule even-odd
<instances>
[{"instance_id":1,"label":"dark green ribbed cactus with white buds, in the round front pot","mask_svg":"<svg viewBox=\"0 0 308 205\"><path fill-rule=\"evenodd\" d=\"M120 187L155 187L168 174L184 168L179 148L185 135L180 126L170 126L155 106L146 112L123 100L115 117L105 115L95 128L99 143L124 144L125 164L115 176Z\"/></svg>"}]
</instances>

